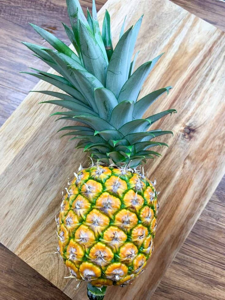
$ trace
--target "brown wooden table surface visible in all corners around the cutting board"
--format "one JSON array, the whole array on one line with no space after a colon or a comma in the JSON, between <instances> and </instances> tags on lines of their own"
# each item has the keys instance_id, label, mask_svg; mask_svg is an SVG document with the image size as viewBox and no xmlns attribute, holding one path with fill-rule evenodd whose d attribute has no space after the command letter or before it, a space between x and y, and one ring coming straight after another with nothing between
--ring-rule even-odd
<instances>
[{"instance_id":1,"label":"brown wooden table surface visible in all corners around the cutting board","mask_svg":"<svg viewBox=\"0 0 225 300\"><path fill-rule=\"evenodd\" d=\"M100 8L104 2L104 0L96 1L97 7ZM217 0L204 1L204 4L197 0L176 0L174 2L225 30L224 2ZM91 7L90 1L81 1L81 4L84 7ZM11 1L1 0L0 15L2 36L0 122L2 124L36 83L33 78L18 74L20 70L26 70L27 65L35 67L36 64L30 53L18 42L26 40L43 44L43 41L30 30L27 22L37 23L68 42L62 27L58 27L58 21L56 21L61 20L68 23L68 17L65 3L60 0L17 0L13 4ZM38 64L40 66L40 62ZM43 65L42 69L47 70L47 67ZM224 299L224 199L225 178L219 184L174 262L167 269L152 299ZM66 295L3 246L0 248L0 257L1 261L5 261L5 264L0 265L0 271L9 275L11 279L13 276L14 279L3 280L0 277L0 287L3 291L0 299L28 299L27 293L30 287L37 293L39 293L40 287L46 291L47 298L44 298L43 294L39 294L37 299L51 299L47 293L52 293L52 299L57 299L57 297L68 299ZM10 268L11 272L13 270L13 274L9 272ZM27 277L29 279L27 283L21 281L23 272L24 274L33 274ZM43 283L45 280L46 282ZM15 286L15 282L20 281L21 284ZM53 296L54 293L55 296ZM30 294L29 299L36 299L35 297L35 293L33 293Z\"/></svg>"}]
</instances>

